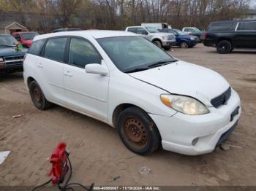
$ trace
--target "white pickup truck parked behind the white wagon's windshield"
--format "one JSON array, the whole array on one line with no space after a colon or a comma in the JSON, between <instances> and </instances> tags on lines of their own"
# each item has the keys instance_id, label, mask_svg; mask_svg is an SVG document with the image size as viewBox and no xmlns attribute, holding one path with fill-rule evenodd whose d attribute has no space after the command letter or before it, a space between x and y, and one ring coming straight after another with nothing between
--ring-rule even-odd
<instances>
[{"instance_id":1,"label":"white pickup truck parked behind the white wagon's windshield","mask_svg":"<svg viewBox=\"0 0 256 191\"><path fill-rule=\"evenodd\" d=\"M165 50L169 50L171 45L176 43L176 37L173 34L160 33L157 28L150 26L128 26L125 31L139 34Z\"/></svg>"}]
</instances>

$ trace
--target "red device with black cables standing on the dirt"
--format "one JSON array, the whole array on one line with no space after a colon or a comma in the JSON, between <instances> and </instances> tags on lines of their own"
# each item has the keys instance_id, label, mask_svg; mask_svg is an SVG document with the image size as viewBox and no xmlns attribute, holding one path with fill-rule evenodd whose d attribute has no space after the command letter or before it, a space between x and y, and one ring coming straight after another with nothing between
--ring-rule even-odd
<instances>
[{"instance_id":1,"label":"red device with black cables standing on the dirt","mask_svg":"<svg viewBox=\"0 0 256 191\"><path fill-rule=\"evenodd\" d=\"M52 182L53 184L58 185L59 190L65 191L65 190L74 190L71 186L80 186L84 190L91 191L93 190L94 184L91 184L90 187L85 187L82 184L79 183L69 183L69 180L72 176L72 165L69 160L69 153L66 151L67 144L64 142L61 142L58 144L58 147L54 149L52 155L50 156L50 163L52 164L52 167L50 169L50 180L48 182L45 182L44 184L41 184L37 187L34 187L33 190L37 190L40 187L45 186L46 184L49 184ZM61 186L61 184L64 182L65 176L67 172L69 171L69 177L67 178L67 181L64 183L64 186Z\"/></svg>"}]
</instances>

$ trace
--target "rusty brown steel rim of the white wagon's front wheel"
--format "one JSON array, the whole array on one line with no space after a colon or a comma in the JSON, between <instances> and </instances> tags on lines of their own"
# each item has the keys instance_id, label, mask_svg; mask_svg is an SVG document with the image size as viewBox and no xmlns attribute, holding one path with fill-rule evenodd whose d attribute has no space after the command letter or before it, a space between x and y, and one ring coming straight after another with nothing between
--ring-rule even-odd
<instances>
[{"instance_id":1,"label":"rusty brown steel rim of the white wagon's front wheel","mask_svg":"<svg viewBox=\"0 0 256 191\"><path fill-rule=\"evenodd\" d=\"M127 117L124 122L124 133L127 141L137 149L145 147L148 143L146 129L143 127L142 122L135 117Z\"/></svg>"}]
</instances>

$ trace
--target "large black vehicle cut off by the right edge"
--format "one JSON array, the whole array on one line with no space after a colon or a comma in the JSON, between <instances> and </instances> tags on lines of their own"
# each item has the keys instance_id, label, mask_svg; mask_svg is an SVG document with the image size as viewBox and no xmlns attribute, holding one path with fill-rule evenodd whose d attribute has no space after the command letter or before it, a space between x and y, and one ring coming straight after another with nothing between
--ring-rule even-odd
<instances>
[{"instance_id":1,"label":"large black vehicle cut off by the right edge","mask_svg":"<svg viewBox=\"0 0 256 191\"><path fill-rule=\"evenodd\" d=\"M256 49L256 20L229 20L210 23L203 44L220 54L233 49Z\"/></svg>"}]
</instances>

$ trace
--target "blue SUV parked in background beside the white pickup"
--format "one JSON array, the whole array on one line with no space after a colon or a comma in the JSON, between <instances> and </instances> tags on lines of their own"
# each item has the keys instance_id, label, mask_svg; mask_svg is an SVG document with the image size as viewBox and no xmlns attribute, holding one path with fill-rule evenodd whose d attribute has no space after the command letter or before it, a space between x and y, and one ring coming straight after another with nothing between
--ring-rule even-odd
<instances>
[{"instance_id":1,"label":"blue SUV parked in background beside the white pickup","mask_svg":"<svg viewBox=\"0 0 256 191\"><path fill-rule=\"evenodd\" d=\"M159 31L162 33L174 34L176 36L176 43L172 45L175 45L181 48L194 47L198 42L200 42L200 39L197 36L184 34L184 32L178 29L163 28L163 29L159 29Z\"/></svg>"}]
</instances>

